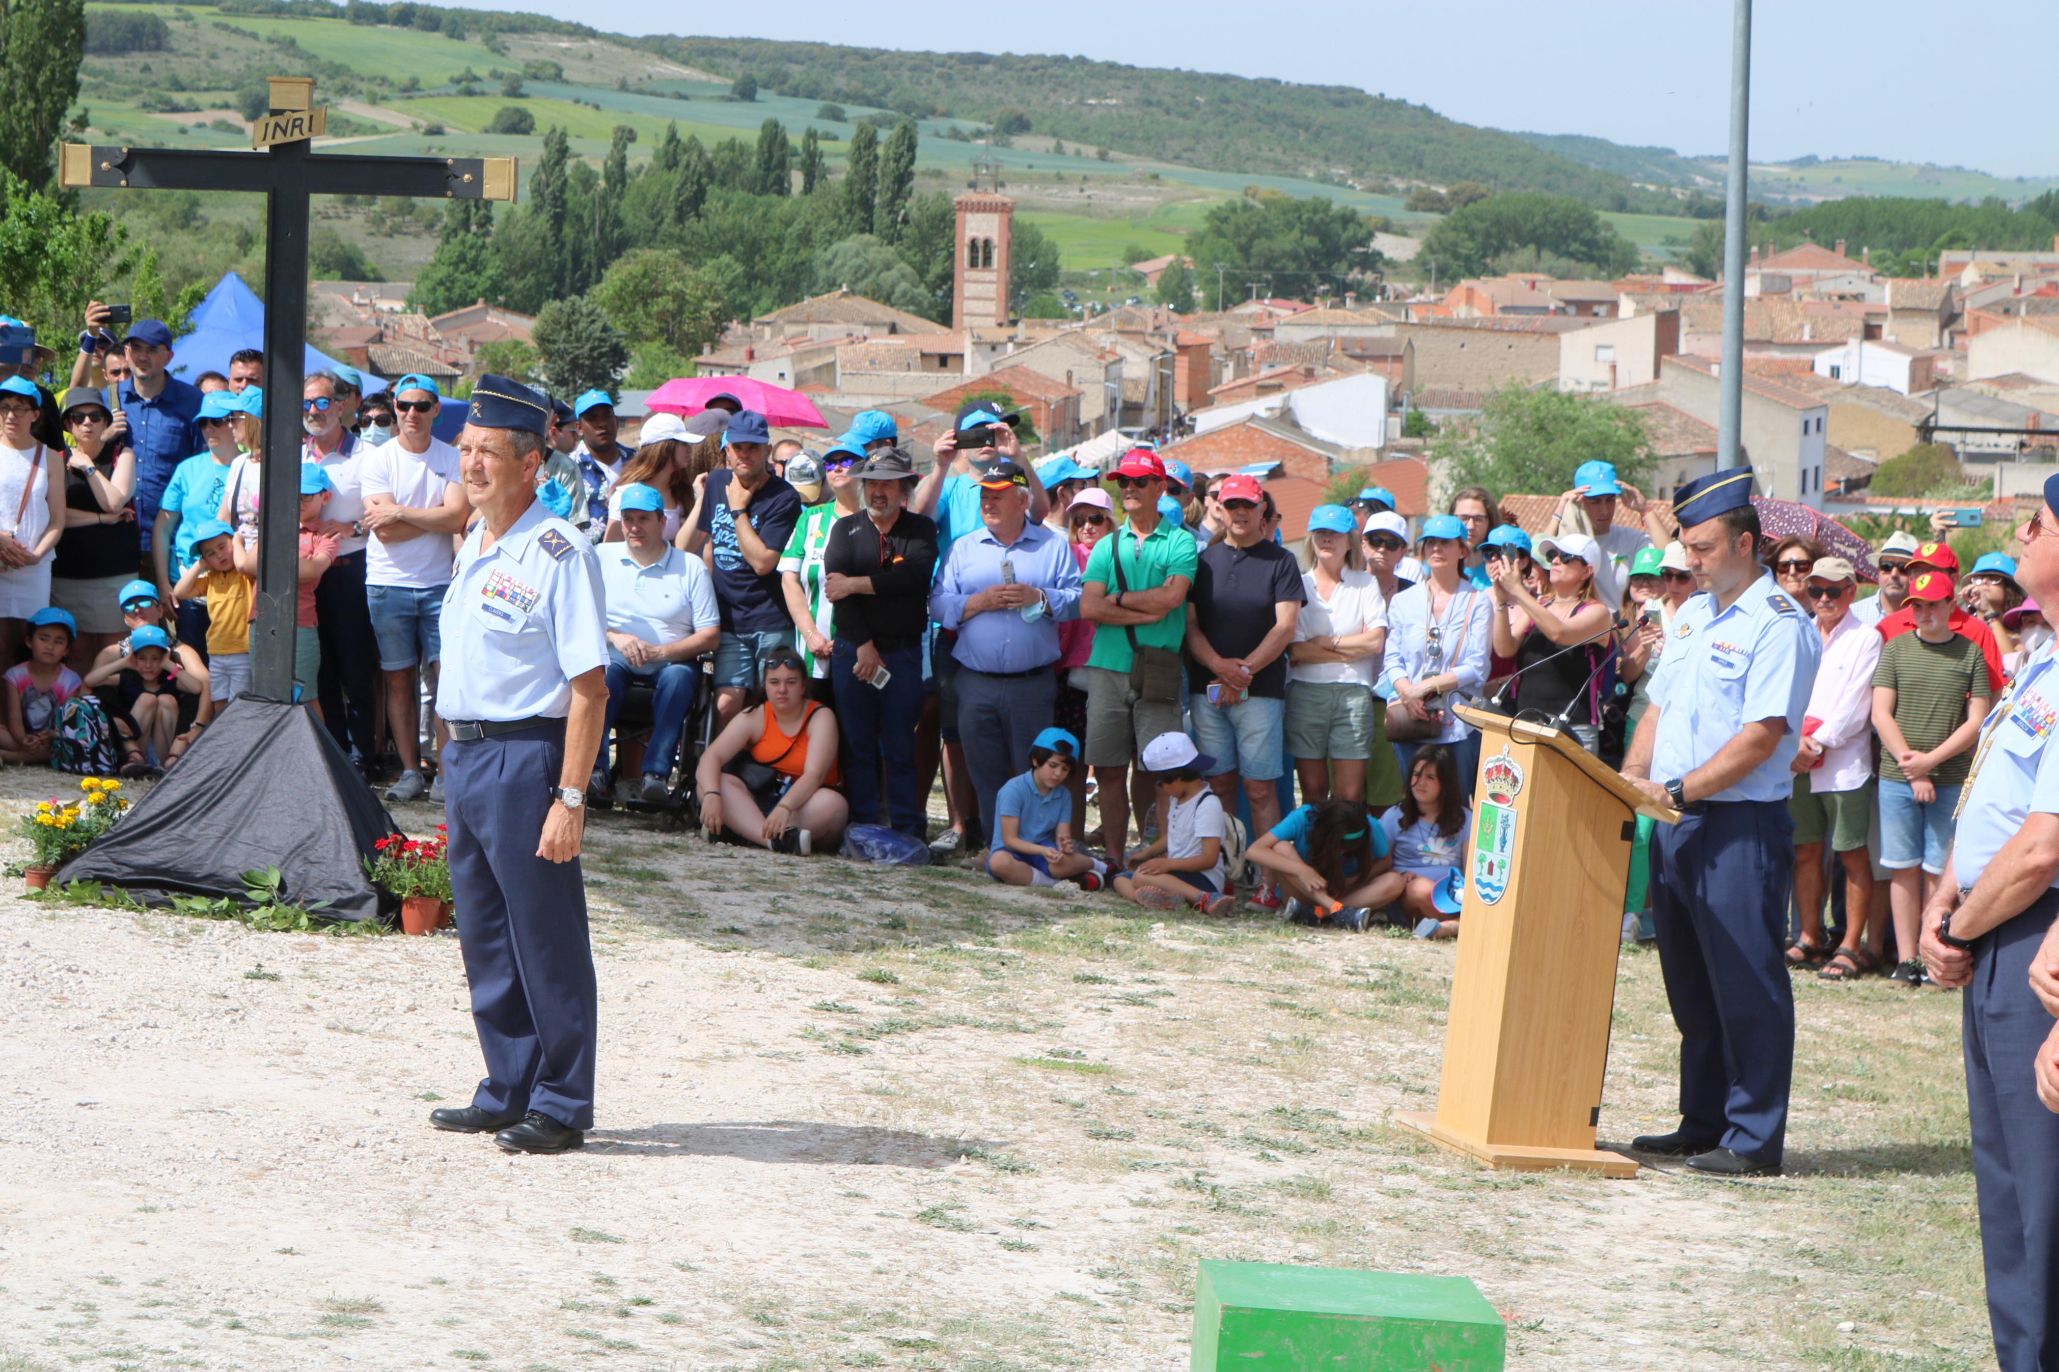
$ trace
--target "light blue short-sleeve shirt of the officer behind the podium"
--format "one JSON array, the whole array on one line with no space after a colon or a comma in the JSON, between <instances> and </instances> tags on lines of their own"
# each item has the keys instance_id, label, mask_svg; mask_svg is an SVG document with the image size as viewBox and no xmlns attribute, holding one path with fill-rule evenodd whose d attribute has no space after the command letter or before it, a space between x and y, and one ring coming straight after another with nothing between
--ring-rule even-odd
<instances>
[{"instance_id":1,"label":"light blue short-sleeve shirt of the officer behind the podium","mask_svg":"<svg viewBox=\"0 0 2059 1372\"><path fill-rule=\"evenodd\" d=\"M1820 658L1814 621L1771 576L1746 586L1725 611L1717 611L1707 590L1688 597L1674 615L1672 642L1647 691L1660 706L1651 778L1684 778L1746 724L1781 720L1785 728L1773 757L1707 800L1787 800L1793 794L1789 765Z\"/></svg>"}]
</instances>

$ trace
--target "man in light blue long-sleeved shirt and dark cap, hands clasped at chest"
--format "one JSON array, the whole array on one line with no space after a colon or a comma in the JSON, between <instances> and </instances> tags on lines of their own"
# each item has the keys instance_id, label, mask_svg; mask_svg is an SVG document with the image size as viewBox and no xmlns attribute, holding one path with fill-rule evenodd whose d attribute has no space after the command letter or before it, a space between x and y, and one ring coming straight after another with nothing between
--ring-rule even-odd
<instances>
[{"instance_id":1,"label":"man in light blue long-sleeved shirt and dark cap, hands clasped at chest","mask_svg":"<svg viewBox=\"0 0 2059 1372\"><path fill-rule=\"evenodd\" d=\"M1065 535L1030 520L1030 483L1017 463L997 457L974 475L982 527L951 543L929 613L957 634L957 738L980 808L968 829L986 841L994 794L1050 728L1056 621L1079 617L1079 562Z\"/></svg>"}]
</instances>

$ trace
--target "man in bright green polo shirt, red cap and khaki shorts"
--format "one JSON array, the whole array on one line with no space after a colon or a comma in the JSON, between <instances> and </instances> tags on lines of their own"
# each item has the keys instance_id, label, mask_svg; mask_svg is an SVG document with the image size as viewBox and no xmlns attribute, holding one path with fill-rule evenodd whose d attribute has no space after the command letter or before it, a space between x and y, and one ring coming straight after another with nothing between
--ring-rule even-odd
<instances>
[{"instance_id":1,"label":"man in bright green polo shirt, red cap and khaki shorts","mask_svg":"<svg viewBox=\"0 0 2059 1372\"><path fill-rule=\"evenodd\" d=\"M1102 802L1102 841L1120 864L1130 837L1124 769L1159 734L1180 732L1180 648L1186 590L1194 584L1194 535L1159 516L1165 465L1130 448L1116 467L1120 529L1093 545L1081 572L1079 617L1093 627L1087 656L1087 743Z\"/></svg>"}]
</instances>

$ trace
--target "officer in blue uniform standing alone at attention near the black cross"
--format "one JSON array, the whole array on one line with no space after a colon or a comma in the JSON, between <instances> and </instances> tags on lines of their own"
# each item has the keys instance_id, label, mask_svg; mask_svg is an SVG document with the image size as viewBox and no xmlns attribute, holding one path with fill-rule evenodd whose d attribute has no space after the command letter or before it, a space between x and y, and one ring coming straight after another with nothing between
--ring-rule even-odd
<instances>
[{"instance_id":1,"label":"officer in blue uniform standing alone at attention near the black cross","mask_svg":"<svg viewBox=\"0 0 2059 1372\"><path fill-rule=\"evenodd\" d=\"M457 438L478 512L443 597L437 714L451 895L486 1080L439 1129L564 1152L593 1127L593 948L579 870L585 786L607 714L593 545L537 502L550 403L480 376Z\"/></svg>"}]
</instances>

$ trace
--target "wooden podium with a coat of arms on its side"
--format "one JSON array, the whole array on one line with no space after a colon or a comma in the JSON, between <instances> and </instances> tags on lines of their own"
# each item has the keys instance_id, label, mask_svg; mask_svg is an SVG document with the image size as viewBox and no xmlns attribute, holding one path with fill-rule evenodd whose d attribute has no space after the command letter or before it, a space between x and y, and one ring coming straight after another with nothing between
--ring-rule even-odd
<instances>
[{"instance_id":1,"label":"wooden podium with a coat of arms on its side","mask_svg":"<svg viewBox=\"0 0 2059 1372\"><path fill-rule=\"evenodd\" d=\"M1460 706L1480 730L1437 1113L1394 1119L1491 1168L1633 1177L1594 1146L1635 817L1674 823L1573 738Z\"/></svg>"}]
</instances>

